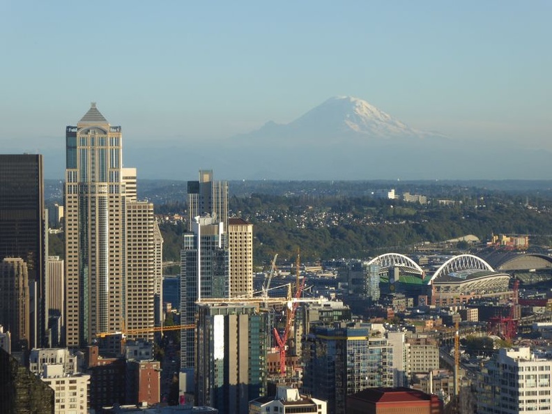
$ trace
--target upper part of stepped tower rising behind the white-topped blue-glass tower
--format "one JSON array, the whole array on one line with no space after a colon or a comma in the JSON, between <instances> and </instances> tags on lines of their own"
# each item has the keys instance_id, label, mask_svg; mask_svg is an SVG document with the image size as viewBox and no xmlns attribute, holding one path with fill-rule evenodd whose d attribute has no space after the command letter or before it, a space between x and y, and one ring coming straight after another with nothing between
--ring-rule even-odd
<instances>
[{"instance_id":1,"label":"upper part of stepped tower rising behind the white-topped blue-glass tower","mask_svg":"<svg viewBox=\"0 0 552 414\"><path fill-rule=\"evenodd\" d=\"M228 232L228 183L213 181L212 170L199 170L199 181L188 181L188 231L192 231L194 217L210 215L224 223Z\"/></svg>"}]
</instances>

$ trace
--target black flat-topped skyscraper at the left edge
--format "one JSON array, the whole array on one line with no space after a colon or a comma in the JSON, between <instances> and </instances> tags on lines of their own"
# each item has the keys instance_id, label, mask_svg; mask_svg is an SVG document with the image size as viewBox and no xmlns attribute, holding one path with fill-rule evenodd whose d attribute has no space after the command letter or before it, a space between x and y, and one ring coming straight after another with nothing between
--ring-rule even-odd
<instances>
[{"instance_id":1,"label":"black flat-topped skyscraper at the left edge","mask_svg":"<svg viewBox=\"0 0 552 414\"><path fill-rule=\"evenodd\" d=\"M20 257L26 263L31 347L42 346L46 337L46 231L42 155L0 155L0 261Z\"/></svg>"}]
</instances>

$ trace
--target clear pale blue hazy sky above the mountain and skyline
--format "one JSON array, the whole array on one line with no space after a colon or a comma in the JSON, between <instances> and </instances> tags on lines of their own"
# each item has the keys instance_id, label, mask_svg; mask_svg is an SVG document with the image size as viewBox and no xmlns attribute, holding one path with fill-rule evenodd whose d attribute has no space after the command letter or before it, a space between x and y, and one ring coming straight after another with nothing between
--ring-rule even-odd
<instances>
[{"instance_id":1,"label":"clear pale blue hazy sky above the mountain and skyline","mask_svg":"<svg viewBox=\"0 0 552 414\"><path fill-rule=\"evenodd\" d=\"M548 0L0 0L0 145L63 148L91 101L129 145L354 95L415 128L550 149L551 15Z\"/></svg>"}]
</instances>

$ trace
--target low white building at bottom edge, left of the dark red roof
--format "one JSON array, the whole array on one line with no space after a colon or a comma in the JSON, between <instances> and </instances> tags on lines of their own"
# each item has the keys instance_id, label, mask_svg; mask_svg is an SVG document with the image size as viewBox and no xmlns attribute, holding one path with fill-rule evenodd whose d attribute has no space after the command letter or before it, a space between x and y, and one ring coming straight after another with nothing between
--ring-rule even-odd
<instances>
[{"instance_id":1,"label":"low white building at bottom edge, left of the dark red roof","mask_svg":"<svg viewBox=\"0 0 552 414\"><path fill-rule=\"evenodd\" d=\"M279 386L275 397L259 397L250 401L249 414L315 413L326 414L326 402L299 394L296 388Z\"/></svg>"}]
</instances>

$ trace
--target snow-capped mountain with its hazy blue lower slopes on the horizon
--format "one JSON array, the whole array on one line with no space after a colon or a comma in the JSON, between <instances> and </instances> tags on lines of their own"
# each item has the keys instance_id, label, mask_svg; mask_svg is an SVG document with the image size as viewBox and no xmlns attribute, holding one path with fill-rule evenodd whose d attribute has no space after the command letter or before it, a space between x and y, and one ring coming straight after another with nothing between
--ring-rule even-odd
<instances>
[{"instance_id":1,"label":"snow-capped mountain with its hazy blue lower slopes on the horizon","mask_svg":"<svg viewBox=\"0 0 552 414\"><path fill-rule=\"evenodd\" d=\"M211 143L187 141L126 153L127 160L144 160L130 165L155 178L193 177L206 168L217 177L254 180L549 177L549 151L525 148L523 141L496 145L484 137L468 138L415 130L347 96L330 98L287 124L271 121ZM523 166L523 175L505 166Z\"/></svg>"}]
</instances>

